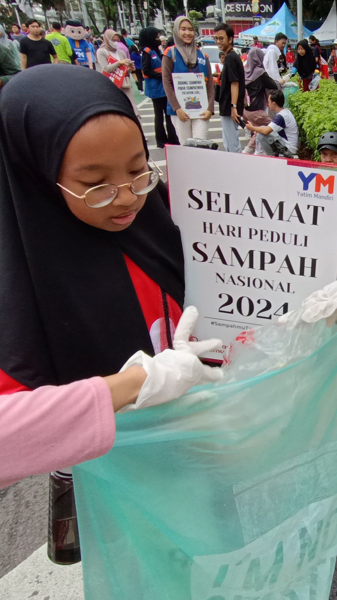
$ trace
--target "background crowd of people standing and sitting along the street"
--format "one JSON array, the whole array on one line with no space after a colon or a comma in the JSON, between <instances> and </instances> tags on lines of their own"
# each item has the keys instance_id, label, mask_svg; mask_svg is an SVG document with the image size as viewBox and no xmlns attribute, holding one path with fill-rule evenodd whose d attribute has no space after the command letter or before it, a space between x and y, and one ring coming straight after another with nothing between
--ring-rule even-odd
<instances>
[{"instance_id":1,"label":"background crowd of people standing and sitting along the street","mask_svg":"<svg viewBox=\"0 0 337 600\"><path fill-rule=\"evenodd\" d=\"M21 27L13 23L11 29L7 35L0 28L0 89L20 70L38 64L76 64L108 76L126 67L121 89L138 118L131 77L140 94L151 98L158 148L164 148L166 143L183 144L191 137L206 140L214 103L218 101L225 151L242 151L241 125L251 131L252 136L243 150L246 154L273 155L282 154L282 150L286 155L296 154L298 130L296 134L291 131L297 126L282 92L297 86L288 80L291 73L298 73L300 87L304 92L309 91L322 61L320 44L314 35L309 37L309 43L299 41L296 53L290 46L285 53L287 36L282 33L266 48L255 36L252 46L243 48L239 56L233 46L233 29L219 23L214 38L221 68L217 67L218 73L212 73L207 55L201 52L200 44L195 43L194 27L185 16L175 20L169 40L159 29L147 27L140 32L137 44L125 29L119 34L107 29L101 38L93 36L89 27L84 28L74 19L67 21L65 29L58 22L52 23L46 35L35 19L29 19ZM337 40L335 42L330 63L337 81ZM289 74L284 75L287 71ZM179 105L172 75L193 72L204 74L208 106L199 118L191 119ZM281 93L272 94L276 91Z\"/></svg>"}]
</instances>

